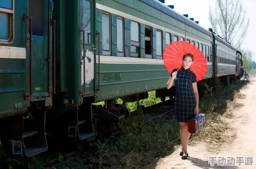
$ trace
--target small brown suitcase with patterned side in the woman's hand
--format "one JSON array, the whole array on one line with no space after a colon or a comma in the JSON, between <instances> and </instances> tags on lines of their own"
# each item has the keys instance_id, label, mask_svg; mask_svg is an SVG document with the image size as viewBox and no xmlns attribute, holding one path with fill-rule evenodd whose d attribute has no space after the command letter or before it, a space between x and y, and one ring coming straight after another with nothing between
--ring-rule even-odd
<instances>
[{"instance_id":1,"label":"small brown suitcase with patterned side in the woman's hand","mask_svg":"<svg viewBox=\"0 0 256 169\"><path fill-rule=\"evenodd\" d=\"M188 119L187 124L188 124L188 132L196 133L206 127L206 115L205 114L196 115L194 118Z\"/></svg>"}]
</instances>

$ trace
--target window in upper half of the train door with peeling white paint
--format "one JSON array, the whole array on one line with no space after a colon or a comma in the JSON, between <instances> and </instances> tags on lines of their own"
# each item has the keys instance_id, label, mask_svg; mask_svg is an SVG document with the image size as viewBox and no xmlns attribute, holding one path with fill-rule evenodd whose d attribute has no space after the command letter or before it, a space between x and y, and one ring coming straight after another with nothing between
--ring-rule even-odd
<instances>
[{"instance_id":1,"label":"window in upper half of the train door with peeling white paint","mask_svg":"<svg viewBox=\"0 0 256 169\"><path fill-rule=\"evenodd\" d=\"M86 24L82 25L82 24L83 24L83 19L84 19L84 16L82 16L82 5L83 5L82 2L88 2L88 3L90 4L90 19L89 19L88 22L86 23L86 24L89 23L89 26L87 25L86 28L84 28L84 25L86 25ZM81 24L81 29L82 29L82 30L85 30L85 45L91 45L91 0L81 0L80 3L81 3L80 24ZM87 10L85 10L85 11L87 11ZM87 19L88 19L88 18L86 18L86 20L87 20ZM88 29L90 29L90 32L88 31ZM90 38L89 38L89 36L90 36ZM84 37L83 37L83 34L81 33L81 44L83 44L83 38L84 38Z\"/></svg>"}]
</instances>

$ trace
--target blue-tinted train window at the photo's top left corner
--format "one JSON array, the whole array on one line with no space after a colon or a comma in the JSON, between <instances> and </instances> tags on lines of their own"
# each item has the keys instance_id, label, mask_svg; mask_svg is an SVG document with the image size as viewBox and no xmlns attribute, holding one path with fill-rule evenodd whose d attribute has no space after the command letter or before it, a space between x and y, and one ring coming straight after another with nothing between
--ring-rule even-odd
<instances>
[{"instance_id":1,"label":"blue-tinted train window at the photo's top left corner","mask_svg":"<svg viewBox=\"0 0 256 169\"><path fill-rule=\"evenodd\" d=\"M11 42L13 40L13 0L0 1L0 42Z\"/></svg>"}]
</instances>

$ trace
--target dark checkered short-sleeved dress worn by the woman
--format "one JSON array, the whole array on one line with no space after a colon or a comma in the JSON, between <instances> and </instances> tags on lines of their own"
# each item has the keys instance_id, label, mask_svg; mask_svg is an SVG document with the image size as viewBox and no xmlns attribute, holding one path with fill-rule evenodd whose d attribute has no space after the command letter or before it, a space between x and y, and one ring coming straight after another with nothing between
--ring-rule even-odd
<instances>
[{"instance_id":1,"label":"dark checkered short-sleeved dress worn by the woman","mask_svg":"<svg viewBox=\"0 0 256 169\"><path fill-rule=\"evenodd\" d=\"M172 73L178 69L173 69ZM178 122L187 122L194 117L196 99L192 91L191 83L197 81L197 76L190 69L181 69L177 72L175 78L175 112Z\"/></svg>"}]
</instances>

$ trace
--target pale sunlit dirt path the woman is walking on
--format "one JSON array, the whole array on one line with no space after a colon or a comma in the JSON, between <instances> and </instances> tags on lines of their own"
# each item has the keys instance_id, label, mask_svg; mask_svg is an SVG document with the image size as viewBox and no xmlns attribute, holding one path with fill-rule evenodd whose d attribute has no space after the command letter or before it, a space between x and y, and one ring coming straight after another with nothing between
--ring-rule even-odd
<instances>
[{"instance_id":1,"label":"pale sunlit dirt path the woman is walking on","mask_svg":"<svg viewBox=\"0 0 256 169\"><path fill-rule=\"evenodd\" d=\"M160 159L145 169L256 169L256 78L240 90L245 98L235 100L242 106L233 112L233 118L222 117L230 129L224 134L225 142L218 145L212 142L194 142L188 145L188 158L182 160L178 147L170 156ZM253 165L211 166L209 157L254 157Z\"/></svg>"}]
</instances>

